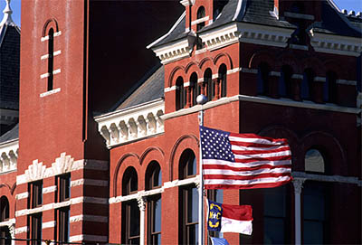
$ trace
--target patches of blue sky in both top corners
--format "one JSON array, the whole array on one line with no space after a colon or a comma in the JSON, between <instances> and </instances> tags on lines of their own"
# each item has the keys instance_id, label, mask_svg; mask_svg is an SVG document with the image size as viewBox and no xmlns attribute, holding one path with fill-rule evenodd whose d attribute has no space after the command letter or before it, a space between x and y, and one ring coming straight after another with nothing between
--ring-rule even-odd
<instances>
[{"instance_id":1,"label":"patches of blue sky in both top corners","mask_svg":"<svg viewBox=\"0 0 362 245\"><path fill-rule=\"evenodd\" d=\"M23 0L27 1L27 0ZM45 0L42 0L45 1ZM52 0L52 1L58 1L58 0ZM64 1L64 0L63 0ZM70 1L70 0L66 0ZM121 0L119 0L121 1ZM145 0L147 1L147 0ZM350 10L354 10L356 14L358 12L362 12L362 0L333 0L336 5L338 5L339 9L347 9L348 12ZM16 24L20 26L20 6L21 6L21 0L12 0L11 1L11 8L13 9L13 20ZM5 8L5 0L0 0L0 11L3 11ZM0 16L3 14L1 13Z\"/></svg>"}]
</instances>

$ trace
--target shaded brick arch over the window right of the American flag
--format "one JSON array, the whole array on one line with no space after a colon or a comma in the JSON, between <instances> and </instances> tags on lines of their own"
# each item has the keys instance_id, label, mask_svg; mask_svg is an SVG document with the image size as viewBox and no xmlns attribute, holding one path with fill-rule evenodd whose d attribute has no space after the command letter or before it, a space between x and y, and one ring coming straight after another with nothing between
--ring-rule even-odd
<instances>
[{"instance_id":1,"label":"shaded brick arch over the window right of the American flag","mask_svg":"<svg viewBox=\"0 0 362 245\"><path fill-rule=\"evenodd\" d=\"M303 170L304 155L310 148L318 149L322 155L327 158L325 159L326 166L328 166L332 173L338 173L340 175L348 174L346 153L336 137L319 131L310 132L302 137L300 139L300 153L303 156Z\"/></svg>"}]
</instances>

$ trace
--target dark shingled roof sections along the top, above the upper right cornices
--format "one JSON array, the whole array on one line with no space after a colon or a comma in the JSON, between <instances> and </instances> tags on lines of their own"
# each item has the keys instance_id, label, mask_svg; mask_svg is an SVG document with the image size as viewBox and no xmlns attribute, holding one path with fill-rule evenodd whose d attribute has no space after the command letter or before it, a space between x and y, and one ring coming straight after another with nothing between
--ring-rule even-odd
<instances>
[{"instance_id":1,"label":"dark shingled roof sections along the top, above the upper right cornices","mask_svg":"<svg viewBox=\"0 0 362 245\"><path fill-rule=\"evenodd\" d=\"M240 11L239 11L240 9ZM216 17L213 24L205 26L200 33L214 29L215 27L229 24L232 22L243 22L251 24L263 24L285 28L296 28L294 24L277 19L273 14L273 0L229 0L224 8ZM237 14L237 15L235 15ZM336 22L336 20L338 20ZM336 33L339 35L361 37L361 29L357 28L357 21L353 24L348 21L348 17L338 12L338 9L329 1L323 1L322 5L322 22L310 26L313 31L320 33ZM175 42L185 38L188 33L185 32L185 16L182 21L176 25L176 28L168 33L158 42L154 42L149 47L154 48L168 42Z\"/></svg>"}]
</instances>

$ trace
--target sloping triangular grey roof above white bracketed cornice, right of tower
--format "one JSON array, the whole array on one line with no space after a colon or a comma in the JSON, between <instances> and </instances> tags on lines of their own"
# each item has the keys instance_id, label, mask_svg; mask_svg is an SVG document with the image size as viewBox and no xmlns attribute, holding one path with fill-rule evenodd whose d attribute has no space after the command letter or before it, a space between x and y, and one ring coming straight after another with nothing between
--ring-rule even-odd
<instances>
[{"instance_id":1,"label":"sloping triangular grey roof above white bracketed cornice, right of tower","mask_svg":"<svg viewBox=\"0 0 362 245\"><path fill-rule=\"evenodd\" d=\"M148 77L127 99L115 110L130 108L148 101L163 98L165 87L165 68L161 66Z\"/></svg>"}]
</instances>

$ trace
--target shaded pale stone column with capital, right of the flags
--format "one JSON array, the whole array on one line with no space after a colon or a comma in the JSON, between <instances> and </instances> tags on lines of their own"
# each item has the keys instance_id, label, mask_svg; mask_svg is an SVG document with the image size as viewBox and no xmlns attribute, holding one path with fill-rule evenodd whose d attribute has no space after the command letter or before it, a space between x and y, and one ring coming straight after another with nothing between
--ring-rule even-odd
<instances>
[{"instance_id":1,"label":"shaded pale stone column with capital, right of the flags","mask_svg":"<svg viewBox=\"0 0 362 245\"><path fill-rule=\"evenodd\" d=\"M294 178L294 220L295 220L295 244L301 244L301 219L300 219L300 193L305 179Z\"/></svg>"}]
</instances>

